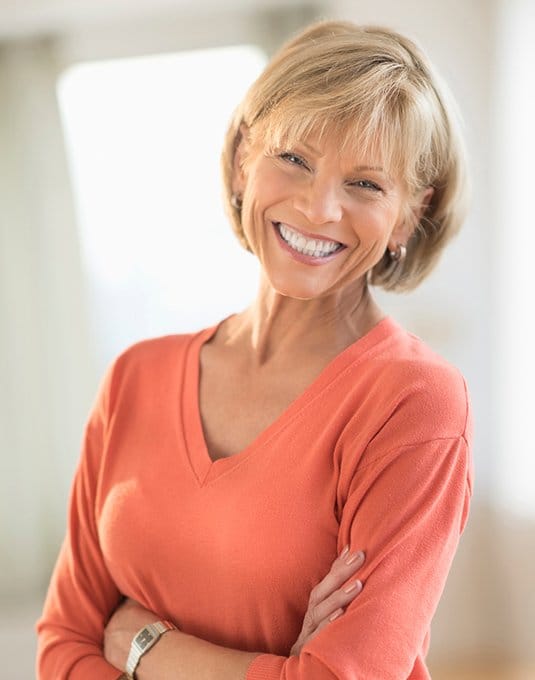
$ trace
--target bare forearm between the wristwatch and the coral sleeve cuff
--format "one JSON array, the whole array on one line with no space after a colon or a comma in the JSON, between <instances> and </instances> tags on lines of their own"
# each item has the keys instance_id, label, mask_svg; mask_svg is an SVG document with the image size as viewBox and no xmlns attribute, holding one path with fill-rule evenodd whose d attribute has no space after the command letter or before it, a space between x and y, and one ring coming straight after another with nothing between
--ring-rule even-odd
<instances>
[{"instance_id":1,"label":"bare forearm between the wristwatch and the coral sleeve cuff","mask_svg":"<svg viewBox=\"0 0 535 680\"><path fill-rule=\"evenodd\" d=\"M170 631L141 658L138 680L245 680L258 652L242 652Z\"/></svg>"}]
</instances>

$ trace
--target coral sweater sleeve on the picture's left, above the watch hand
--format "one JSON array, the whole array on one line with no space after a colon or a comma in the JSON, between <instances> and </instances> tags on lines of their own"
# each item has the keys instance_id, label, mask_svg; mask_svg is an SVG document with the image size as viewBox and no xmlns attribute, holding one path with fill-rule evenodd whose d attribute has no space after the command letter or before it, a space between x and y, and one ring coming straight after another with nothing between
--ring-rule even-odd
<instances>
[{"instance_id":1,"label":"coral sweater sleeve on the picture's left, above the watch hand","mask_svg":"<svg viewBox=\"0 0 535 680\"><path fill-rule=\"evenodd\" d=\"M95 521L111 371L90 414L71 487L67 532L37 622L38 680L117 680L103 631L121 595L103 559Z\"/></svg>"}]
</instances>

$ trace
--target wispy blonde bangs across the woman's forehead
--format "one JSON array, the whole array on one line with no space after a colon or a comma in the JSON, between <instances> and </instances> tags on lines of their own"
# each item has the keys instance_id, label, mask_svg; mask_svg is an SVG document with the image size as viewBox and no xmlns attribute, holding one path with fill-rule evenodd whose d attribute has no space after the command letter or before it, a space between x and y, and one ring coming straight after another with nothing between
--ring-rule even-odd
<instances>
[{"instance_id":1,"label":"wispy blonde bangs across the woman's forehead","mask_svg":"<svg viewBox=\"0 0 535 680\"><path fill-rule=\"evenodd\" d=\"M320 92L297 86L264 109L251 130L270 150L291 148L311 136L336 136L341 153L372 160L416 192L436 173L431 151L437 120L425 97L407 91L410 84L401 72L389 74L386 83L377 74L362 76L366 86L357 79L350 90L332 82Z\"/></svg>"}]
</instances>

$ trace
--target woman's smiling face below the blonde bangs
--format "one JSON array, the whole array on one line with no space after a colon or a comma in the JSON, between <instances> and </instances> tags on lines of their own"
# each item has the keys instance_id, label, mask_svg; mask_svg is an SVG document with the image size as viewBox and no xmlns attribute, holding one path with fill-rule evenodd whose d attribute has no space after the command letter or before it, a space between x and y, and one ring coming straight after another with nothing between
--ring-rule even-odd
<instances>
[{"instance_id":1,"label":"woman's smiling face below the blonde bangs","mask_svg":"<svg viewBox=\"0 0 535 680\"><path fill-rule=\"evenodd\" d=\"M275 150L244 139L238 149L243 230L282 295L308 300L364 284L385 249L409 237L401 181L340 148L324 135Z\"/></svg>"}]
</instances>

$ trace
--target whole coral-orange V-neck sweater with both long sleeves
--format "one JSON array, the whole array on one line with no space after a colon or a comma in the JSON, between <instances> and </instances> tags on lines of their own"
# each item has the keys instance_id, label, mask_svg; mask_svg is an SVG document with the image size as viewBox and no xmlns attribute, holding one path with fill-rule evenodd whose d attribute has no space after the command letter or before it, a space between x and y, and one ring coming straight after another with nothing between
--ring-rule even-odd
<instances>
[{"instance_id":1,"label":"whole coral-orange V-neck sweater with both long sleeves","mask_svg":"<svg viewBox=\"0 0 535 680\"><path fill-rule=\"evenodd\" d=\"M263 652L247 680L428 678L471 495L461 375L386 318L246 449L212 462L198 359L217 327L138 343L108 371L37 626L38 678L116 680L101 643L121 595ZM367 554L362 593L288 658L346 543Z\"/></svg>"}]
</instances>

